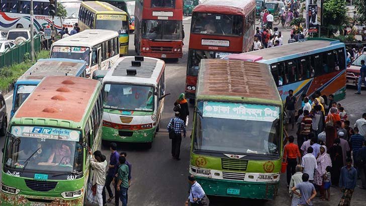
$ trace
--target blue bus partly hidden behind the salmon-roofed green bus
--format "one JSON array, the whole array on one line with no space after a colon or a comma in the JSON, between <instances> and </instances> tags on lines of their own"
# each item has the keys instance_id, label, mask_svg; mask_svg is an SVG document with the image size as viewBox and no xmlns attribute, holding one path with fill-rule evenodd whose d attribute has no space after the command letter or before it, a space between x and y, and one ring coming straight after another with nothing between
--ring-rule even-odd
<instances>
[{"instance_id":1,"label":"blue bus partly hidden behind the salmon-roofed green bus","mask_svg":"<svg viewBox=\"0 0 366 206\"><path fill-rule=\"evenodd\" d=\"M27 99L29 94L45 76L79 76L86 75L86 63L83 60L74 59L39 59L30 67L14 85L13 107L10 114L12 118Z\"/></svg>"}]
</instances>

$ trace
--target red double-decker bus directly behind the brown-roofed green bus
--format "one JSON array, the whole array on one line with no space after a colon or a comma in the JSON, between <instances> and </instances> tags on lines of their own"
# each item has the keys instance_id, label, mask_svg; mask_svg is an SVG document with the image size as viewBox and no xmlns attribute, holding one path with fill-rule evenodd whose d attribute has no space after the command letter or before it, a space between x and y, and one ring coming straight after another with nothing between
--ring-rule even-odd
<instances>
[{"instance_id":1,"label":"red double-decker bus directly behind the brown-roofed green bus","mask_svg":"<svg viewBox=\"0 0 366 206\"><path fill-rule=\"evenodd\" d=\"M252 49L255 6L255 0L206 0L193 10L186 77L186 97L191 103L201 59Z\"/></svg>"}]
</instances>

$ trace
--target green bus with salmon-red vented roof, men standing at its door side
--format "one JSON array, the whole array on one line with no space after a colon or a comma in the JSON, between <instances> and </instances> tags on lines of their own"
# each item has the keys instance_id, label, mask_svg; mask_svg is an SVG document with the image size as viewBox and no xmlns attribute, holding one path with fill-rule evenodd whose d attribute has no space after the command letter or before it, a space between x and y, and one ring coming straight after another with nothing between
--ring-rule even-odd
<instances>
[{"instance_id":1,"label":"green bus with salmon-red vented roof, men standing at its door side","mask_svg":"<svg viewBox=\"0 0 366 206\"><path fill-rule=\"evenodd\" d=\"M43 78L9 123L0 205L83 205L102 117L100 81Z\"/></svg>"}]
</instances>

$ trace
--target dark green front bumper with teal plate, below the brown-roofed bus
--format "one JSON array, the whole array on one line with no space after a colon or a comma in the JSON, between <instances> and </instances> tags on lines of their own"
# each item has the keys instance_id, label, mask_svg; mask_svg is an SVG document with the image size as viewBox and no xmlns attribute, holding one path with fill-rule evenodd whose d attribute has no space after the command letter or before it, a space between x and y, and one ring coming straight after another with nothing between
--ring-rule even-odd
<instances>
[{"instance_id":1,"label":"dark green front bumper with teal plate, below the brown-roofed bus","mask_svg":"<svg viewBox=\"0 0 366 206\"><path fill-rule=\"evenodd\" d=\"M280 182L238 182L196 176L207 195L230 196L251 199L273 199ZM229 191L237 191L230 194Z\"/></svg>"}]
</instances>

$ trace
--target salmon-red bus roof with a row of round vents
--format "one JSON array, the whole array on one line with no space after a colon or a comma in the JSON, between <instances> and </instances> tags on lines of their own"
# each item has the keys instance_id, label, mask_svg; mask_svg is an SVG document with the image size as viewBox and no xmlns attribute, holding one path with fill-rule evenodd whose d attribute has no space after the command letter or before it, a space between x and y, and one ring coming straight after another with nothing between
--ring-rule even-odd
<instances>
[{"instance_id":1,"label":"salmon-red bus roof with a row of round vents","mask_svg":"<svg viewBox=\"0 0 366 206\"><path fill-rule=\"evenodd\" d=\"M100 81L48 76L38 84L14 118L49 118L80 122Z\"/></svg>"}]
</instances>

